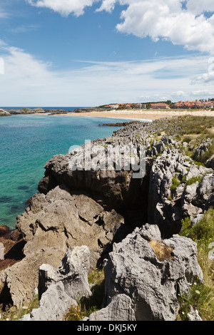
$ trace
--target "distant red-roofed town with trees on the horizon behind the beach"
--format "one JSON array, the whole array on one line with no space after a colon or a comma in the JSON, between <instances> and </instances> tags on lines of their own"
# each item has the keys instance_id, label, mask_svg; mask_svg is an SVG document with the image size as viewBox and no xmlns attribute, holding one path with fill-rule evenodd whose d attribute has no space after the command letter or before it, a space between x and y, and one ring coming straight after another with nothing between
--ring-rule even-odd
<instances>
[{"instance_id":1,"label":"distant red-roofed town with trees on the horizon behind the beach","mask_svg":"<svg viewBox=\"0 0 214 335\"><path fill-rule=\"evenodd\" d=\"M100 106L104 109L124 109L124 108L141 108L141 109L214 109L213 99L202 99L195 101L178 101L172 103L170 100L161 101L156 103L112 103L110 105Z\"/></svg>"}]
</instances>

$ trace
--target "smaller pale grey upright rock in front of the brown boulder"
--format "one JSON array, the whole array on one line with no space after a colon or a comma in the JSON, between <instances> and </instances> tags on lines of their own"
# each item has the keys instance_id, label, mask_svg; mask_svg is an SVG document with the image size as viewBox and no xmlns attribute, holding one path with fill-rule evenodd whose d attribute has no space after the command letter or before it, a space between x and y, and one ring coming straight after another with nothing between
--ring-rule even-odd
<instances>
[{"instance_id":1,"label":"smaller pale grey upright rock in front of the brown boulder","mask_svg":"<svg viewBox=\"0 0 214 335\"><path fill-rule=\"evenodd\" d=\"M88 247L71 247L54 269L43 264L39 269L39 308L21 321L63 321L71 306L77 306L81 297L91 295L88 284L90 252Z\"/></svg>"}]
</instances>

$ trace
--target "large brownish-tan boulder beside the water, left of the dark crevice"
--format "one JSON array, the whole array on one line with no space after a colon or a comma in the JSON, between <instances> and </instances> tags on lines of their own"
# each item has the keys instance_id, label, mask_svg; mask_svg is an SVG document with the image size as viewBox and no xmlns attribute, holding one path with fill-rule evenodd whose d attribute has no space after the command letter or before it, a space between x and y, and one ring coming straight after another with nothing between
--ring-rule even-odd
<instances>
[{"instance_id":1,"label":"large brownish-tan boulder beside the water, left of the dark crevice","mask_svg":"<svg viewBox=\"0 0 214 335\"><path fill-rule=\"evenodd\" d=\"M47 195L34 195L26 211L17 217L16 228L24 237L24 259L5 269L0 279L9 301L16 306L32 299L39 283L38 269L44 262L58 267L69 247L87 245L90 267L95 269L111 251L112 243L124 237L121 215L106 212L86 195L71 195L63 186Z\"/></svg>"}]
</instances>

